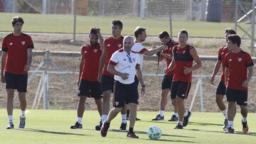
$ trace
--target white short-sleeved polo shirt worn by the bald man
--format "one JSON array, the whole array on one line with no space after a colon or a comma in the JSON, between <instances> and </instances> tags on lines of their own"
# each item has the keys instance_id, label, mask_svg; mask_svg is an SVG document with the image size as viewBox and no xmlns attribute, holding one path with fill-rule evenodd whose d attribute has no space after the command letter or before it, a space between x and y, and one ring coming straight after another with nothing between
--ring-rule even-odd
<instances>
[{"instance_id":1,"label":"white short-sleeved polo shirt worn by the bald man","mask_svg":"<svg viewBox=\"0 0 256 144\"><path fill-rule=\"evenodd\" d=\"M132 51L128 55L124 48L121 48L113 53L109 65L114 65L114 69L118 72L129 74L128 79L114 75L114 80L122 84L132 84L136 74L136 66L141 65L141 62L137 52Z\"/></svg>"}]
</instances>

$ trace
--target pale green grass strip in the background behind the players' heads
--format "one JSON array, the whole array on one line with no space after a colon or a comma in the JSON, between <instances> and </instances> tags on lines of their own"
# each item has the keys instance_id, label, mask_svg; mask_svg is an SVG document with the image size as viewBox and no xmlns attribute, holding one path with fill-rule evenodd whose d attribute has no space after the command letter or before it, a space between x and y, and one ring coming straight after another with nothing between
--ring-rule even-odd
<instances>
[{"instance_id":1,"label":"pale green grass strip in the background behind the players' heads","mask_svg":"<svg viewBox=\"0 0 256 144\"><path fill-rule=\"evenodd\" d=\"M12 31L11 18L23 17L25 24L23 31L36 33L73 33L72 15L31 14L31 13L0 13L0 31ZM147 28L148 35L158 35L161 31L169 31L169 21L158 19L140 19L110 16L77 16L77 33L88 33L90 28L101 28L102 34L110 34L112 20L123 22L123 34L133 35L136 26ZM173 21L173 34L186 28L191 37L223 38L225 28L234 28L234 23L210 23L201 21ZM241 24L245 29L249 24ZM239 31L238 31L239 32ZM242 32L241 32L242 33Z\"/></svg>"}]
</instances>

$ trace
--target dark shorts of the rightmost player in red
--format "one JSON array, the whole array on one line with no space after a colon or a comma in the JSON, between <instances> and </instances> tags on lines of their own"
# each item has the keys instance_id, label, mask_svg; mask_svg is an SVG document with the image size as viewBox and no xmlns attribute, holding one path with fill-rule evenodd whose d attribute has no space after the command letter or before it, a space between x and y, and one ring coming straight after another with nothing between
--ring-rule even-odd
<instances>
[{"instance_id":1,"label":"dark shorts of the rightmost player in red","mask_svg":"<svg viewBox=\"0 0 256 144\"><path fill-rule=\"evenodd\" d=\"M226 92L228 102L237 102L240 106L247 106L248 91L235 90L227 88Z\"/></svg>"}]
</instances>

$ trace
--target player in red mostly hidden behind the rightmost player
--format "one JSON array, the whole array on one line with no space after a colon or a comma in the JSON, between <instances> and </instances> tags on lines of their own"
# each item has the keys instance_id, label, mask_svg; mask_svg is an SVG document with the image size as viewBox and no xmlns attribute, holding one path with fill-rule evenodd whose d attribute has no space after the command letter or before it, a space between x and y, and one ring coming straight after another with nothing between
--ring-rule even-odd
<instances>
[{"instance_id":1,"label":"player in red mostly hidden behind the rightmost player","mask_svg":"<svg viewBox=\"0 0 256 144\"><path fill-rule=\"evenodd\" d=\"M231 34L236 34L235 30L231 29L231 28L227 28L225 29L225 40L226 43L228 43L228 35ZM222 65L223 67L223 72L221 73L221 78L220 78L220 82L218 84L218 88L216 90L216 96L215 96L215 101L218 105L218 108L220 109L220 111L223 113L224 115L224 124L223 124L223 130L225 130L226 128L228 128L228 113L227 113L227 109L225 107L225 104L223 103L223 97L225 95L225 55L229 52L227 45L224 45L223 47L220 47L218 50L218 60L215 63L215 67L213 69L213 74L212 77L210 79L210 83L214 84L214 79L215 79L215 75L218 73L218 71L220 70L220 65Z\"/></svg>"}]
</instances>

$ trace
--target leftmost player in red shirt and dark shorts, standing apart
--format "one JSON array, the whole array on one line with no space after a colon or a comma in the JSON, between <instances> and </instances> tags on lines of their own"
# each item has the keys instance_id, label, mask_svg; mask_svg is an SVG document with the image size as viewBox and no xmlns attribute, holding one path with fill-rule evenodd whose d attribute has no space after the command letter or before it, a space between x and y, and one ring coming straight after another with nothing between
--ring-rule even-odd
<instances>
[{"instance_id":1,"label":"leftmost player in red shirt and dark shorts, standing apart","mask_svg":"<svg viewBox=\"0 0 256 144\"><path fill-rule=\"evenodd\" d=\"M23 18L12 18L13 33L6 35L2 43L1 82L6 83L6 109L9 117L7 129L14 128L14 89L18 91L21 116L18 128L25 128L26 91L28 70L31 68L33 41L30 35L22 33Z\"/></svg>"}]
</instances>

